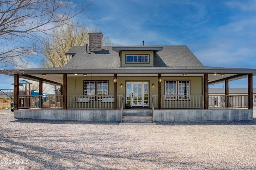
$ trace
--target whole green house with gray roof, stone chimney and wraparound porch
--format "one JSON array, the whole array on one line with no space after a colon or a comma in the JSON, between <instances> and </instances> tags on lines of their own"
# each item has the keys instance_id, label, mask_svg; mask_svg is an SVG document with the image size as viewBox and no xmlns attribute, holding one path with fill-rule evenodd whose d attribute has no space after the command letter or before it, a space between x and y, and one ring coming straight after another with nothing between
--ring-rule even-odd
<instances>
[{"instance_id":1,"label":"whole green house with gray roof, stone chimney and wraparound porch","mask_svg":"<svg viewBox=\"0 0 256 170\"><path fill-rule=\"evenodd\" d=\"M88 46L66 52L73 57L64 67L2 70L14 76L14 117L122 122L252 120L256 69L204 66L182 45L102 46L102 37L102 33L89 33ZM248 94L240 98L242 109L208 107L209 84L225 82L224 100L228 100L228 82L245 77ZM20 96L19 78L39 81L39 95ZM60 86L61 95L44 96L43 83Z\"/></svg>"}]
</instances>

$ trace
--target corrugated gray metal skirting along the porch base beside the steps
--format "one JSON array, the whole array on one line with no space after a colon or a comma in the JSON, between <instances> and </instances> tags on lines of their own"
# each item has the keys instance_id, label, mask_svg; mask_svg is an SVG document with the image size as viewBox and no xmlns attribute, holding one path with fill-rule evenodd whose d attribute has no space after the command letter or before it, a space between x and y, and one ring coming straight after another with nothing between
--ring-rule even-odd
<instances>
[{"instance_id":1,"label":"corrugated gray metal skirting along the porch base beside the steps","mask_svg":"<svg viewBox=\"0 0 256 170\"><path fill-rule=\"evenodd\" d=\"M130 110L130 109L124 109ZM141 111L141 109L139 109ZM121 109L36 108L14 110L17 119L48 119L70 121L119 121ZM252 120L253 109L154 109L154 121L240 121Z\"/></svg>"}]
</instances>

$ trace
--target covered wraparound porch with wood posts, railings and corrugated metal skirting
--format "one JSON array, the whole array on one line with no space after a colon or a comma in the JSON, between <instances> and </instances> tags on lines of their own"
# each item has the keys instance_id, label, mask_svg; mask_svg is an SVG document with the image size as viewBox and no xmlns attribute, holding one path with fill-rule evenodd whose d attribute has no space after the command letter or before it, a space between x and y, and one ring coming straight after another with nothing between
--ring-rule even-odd
<instances>
[{"instance_id":1,"label":"covered wraparound porch with wood posts, railings and corrugated metal skirting","mask_svg":"<svg viewBox=\"0 0 256 170\"><path fill-rule=\"evenodd\" d=\"M138 70L137 70L138 71ZM72 71L74 72L74 70ZM76 70L78 72L78 70ZM185 71L180 71L185 72ZM230 73L217 78L214 73L190 73L186 74L186 80L192 77L201 77L202 90L200 94L190 95L166 95L164 80L170 77L185 77L182 73L152 73L142 77L142 82L148 84L148 106L152 112L152 121L232 121L252 120L253 98L252 98L252 76L253 73ZM213 72L213 71L212 71ZM223 72L223 71L221 71ZM45 72L44 72L45 73ZM132 72L131 72L132 73ZM134 73L135 74L135 73ZM144 74L144 76L142 76ZM68 94L69 80L83 77L83 72L75 74L15 74L14 75L14 116L16 118L32 119L58 119L58 120L80 120L80 121L121 121L123 112L129 110L127 98L127 73L98 74L91 73L95 80L103 79L109 81L109 95L70 95ZM125 76L124 76L125 75ZM108 78L107 78L108 77ZM232 96L228 94L228 82L239 78L248 77L248 95ZM18 80L27 78L39 81L39 95L19 95ZM98 78L98 79L97 79ZM84 78L82 78L84 79ZM58 82L57 82L58 80ZM42 84L47 82L60 86L59 96L47 96L42 94ZM118 82L118 83L117 83ZM225 82L225 95L208 95L208 85ZM112 94L111 94L112 93ZM145 96L144 96L145 98ZM175 100L174 100L175 99ZM219 100L221 99L221 101ZM53 102L55 101L55 102ZM37 105L36 105L37 102ZM143 108L144 106L142 106Z\"/></svg>"}]
</instances>

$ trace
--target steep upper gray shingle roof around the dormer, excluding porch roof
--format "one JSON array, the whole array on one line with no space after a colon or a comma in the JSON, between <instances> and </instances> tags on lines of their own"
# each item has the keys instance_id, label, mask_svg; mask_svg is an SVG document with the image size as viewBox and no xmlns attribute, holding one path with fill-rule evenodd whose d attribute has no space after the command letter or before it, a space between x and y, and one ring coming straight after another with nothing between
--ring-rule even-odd
<instances>
[{"instance_id":1,"label":"steep upper gray shingle roof around the dormer, excluding porch roof","mask_svg":"<svg viewBox=\"0 0 256 170\"><path fill-rule=\"evenodd\" d=\"M86 47L72 47L67 54L74 57L64 66L67 67L120 67L119 53L113 51L113 47L103 46L102 51L89 52L86 54ZM122 46L122 47L138 47L138 46ZM188 49L187 46L139 46L139 47L163 47L163 50L155 53L155 67L171 67L171 66L203 66L196 56Z\"/></svg>"}]
</instances>

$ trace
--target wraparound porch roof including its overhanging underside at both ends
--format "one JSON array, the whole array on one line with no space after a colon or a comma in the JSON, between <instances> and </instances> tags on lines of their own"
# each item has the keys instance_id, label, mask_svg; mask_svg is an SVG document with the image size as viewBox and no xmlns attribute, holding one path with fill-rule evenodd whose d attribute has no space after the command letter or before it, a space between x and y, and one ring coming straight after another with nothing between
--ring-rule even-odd
<instances>
[{"instance_id":1,"label":"wraparound porch roof including its overhanging underside at both ends","mask_svg":"<svg viewBox=\"0 0 256 170\"><path fill-rule=\"evenodd\" d=\"M157 76L158 73L166 76L183 76L184 73L187 76L203 76L204 73L208 73L208 84L218 84L225 82L225 79L237 80L248 77L248 73L256 75L256 69L250 68L223 68L223 67L209 67L209 66L171 66L171 67L86 67L86 66L70 66L70 67L56 67L56 68L29 68L26 70L0 70L1 74L14 75L20 74L21 78L29 80L42 79L43 82L54 85L61 85L59 81L63 82L63 74L68 76L74 76L77 74L100 74L101 76L130 76L131 74L142 74L146 76ZM214 75L217 73L217 75ZM43 77L42 74L49 74ZM221 76L220 74L224 74Z\"/></svg>"}]
</instances>

